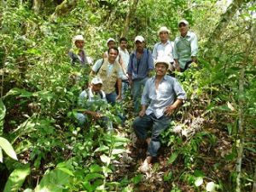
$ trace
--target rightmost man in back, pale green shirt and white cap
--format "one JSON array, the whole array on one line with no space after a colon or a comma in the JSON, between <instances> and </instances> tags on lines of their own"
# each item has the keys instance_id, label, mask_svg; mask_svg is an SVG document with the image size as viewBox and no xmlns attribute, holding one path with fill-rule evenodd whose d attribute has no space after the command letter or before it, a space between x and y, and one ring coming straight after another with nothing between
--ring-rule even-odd
<instances>
[{"instance_id":1,"label":"rightmost man in back, pale green shirt and white cap","mask_svg":"<svg viewBox=\"0 0 256 192\"><path fill-rule=\"evenodd\" d=\"M185 71L192 62L196 62L198 53L197 37L194 32L189 31L189 22L180 20L178 22L180 37L176 37L173 48L173 58L176 62L177 71Z\"/></svg>"}]
</instances>

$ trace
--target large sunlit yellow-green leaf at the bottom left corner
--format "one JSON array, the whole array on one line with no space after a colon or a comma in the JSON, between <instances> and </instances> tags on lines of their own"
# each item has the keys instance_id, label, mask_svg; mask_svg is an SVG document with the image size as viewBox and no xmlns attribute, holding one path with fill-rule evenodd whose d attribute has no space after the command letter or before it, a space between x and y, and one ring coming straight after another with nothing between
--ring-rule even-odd
<instances>
[{"instance_id":1,"label":"large sunlit yellow-green leaf at the bottom left corner","mask_svg":"<svg viewBox=\"0 0 256 192\"><path fill-rule=\"evenodd\" d=\"M7 183L5 184L3 192L18 191L25 181L26 176L30 174L30 165L26 164L24 167L20 167L13 171Z\"/></svg>"}]
</instances>

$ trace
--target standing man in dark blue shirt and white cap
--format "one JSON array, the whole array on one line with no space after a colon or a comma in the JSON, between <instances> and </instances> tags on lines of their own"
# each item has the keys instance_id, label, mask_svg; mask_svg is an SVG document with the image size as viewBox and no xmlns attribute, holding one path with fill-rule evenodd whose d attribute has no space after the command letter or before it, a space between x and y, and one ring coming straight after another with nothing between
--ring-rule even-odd
<instances>
[{"instance_id":1,"label":"standing man in dark blue shirt and white cap","mask_svg":"<svg viewBox=\"0 0 256 192\"><path fill-rule=\"evenodd\" d=\"M145 47L144 38L137 36L134 40L136 50L131 54L128 64L129 84L135 112L139 112L143 87L148 80L149 72L154 70L152 54Z\"/></svg>"}]
</instances>

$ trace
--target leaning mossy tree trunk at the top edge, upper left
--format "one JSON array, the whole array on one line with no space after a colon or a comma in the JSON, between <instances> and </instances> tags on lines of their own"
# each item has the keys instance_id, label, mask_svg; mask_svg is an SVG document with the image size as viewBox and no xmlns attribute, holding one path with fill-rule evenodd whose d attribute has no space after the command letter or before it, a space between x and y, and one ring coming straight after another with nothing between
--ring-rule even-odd
<instances>
[{"instance_id":1,"label":"leaning mossy tree trunk at the top edge, upper left","mask_svg":"<svg viewBox=\"0 0 256 192\"><path fill-rule=\"evenodd\" d=\"M65 0L55 9L55 13L52 14L49 20L55 20L58 16L67 14L70 10L76 7L78 0Z\"/></svg>"}]
</instances>

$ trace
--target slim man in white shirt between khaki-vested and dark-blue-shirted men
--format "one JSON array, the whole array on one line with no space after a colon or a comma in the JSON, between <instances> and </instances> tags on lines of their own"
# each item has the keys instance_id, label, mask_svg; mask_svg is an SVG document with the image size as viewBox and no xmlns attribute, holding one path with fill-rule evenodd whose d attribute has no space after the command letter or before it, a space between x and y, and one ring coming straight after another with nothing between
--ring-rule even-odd
<instances>
[{"instance_id":1,"label":"slim man in white shirt between khaki-vested and dark-blue-shirted men","mask_svg":"<svg viewBox=\"0 0 256 192\"><path fill-rule=\"evenodd\" d=\"M123 76L122 76L122 98L125 99L125 91L128 90L129 88L129 79L128 79L128 74L127 74L127 68L129 64L129 59L130 59L130 54L127 51L127 39L125 37L121 37L119 39L119 55L120 58L123 60Z\"/></svg>"}]
</instances>

